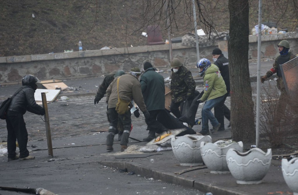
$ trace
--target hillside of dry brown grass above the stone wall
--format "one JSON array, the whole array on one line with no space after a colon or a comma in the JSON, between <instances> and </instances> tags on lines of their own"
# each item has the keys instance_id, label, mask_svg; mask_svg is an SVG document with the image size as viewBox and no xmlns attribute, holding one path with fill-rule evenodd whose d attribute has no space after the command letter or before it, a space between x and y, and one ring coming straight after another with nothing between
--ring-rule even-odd
<instances>
[{"instance_id":1,"label":"hillside of dry brown grass above the stone wall","mask_svg":"<svg viewBox=\"0 0 298 195\"><path fill-rule=\"evenodd\" d=\"M175 1L177 6L175 18L171 20L171 38L193 32L191 1L188 1ZM167 39L166 19L164 16L142 15L143 2L149 1L1 0L0 56L78 51L79 40L84 51L105 46L146 45L147 38L141 33L146 32L146 26L152 23L161 26L163 39ZM204 29L201 22L204 17L218 32L229 30L228 0L200 2L204 14L200 16L197 13L198 29ZM281 29L293 30L297 26L296 1L284 2L263 1L263 21L273 21ZM252 29L258 21L258 1L249 3L249 29ZM280 19L283 10L286 12Z\"/></svg>"}]
</instances>

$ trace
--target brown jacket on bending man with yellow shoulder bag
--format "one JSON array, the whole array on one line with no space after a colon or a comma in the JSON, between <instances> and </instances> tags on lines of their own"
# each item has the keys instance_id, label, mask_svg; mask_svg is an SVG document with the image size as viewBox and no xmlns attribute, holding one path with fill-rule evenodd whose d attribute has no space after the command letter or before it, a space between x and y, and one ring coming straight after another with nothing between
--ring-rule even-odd
<instances>
[{"instance_id":1,"label":"brown jacket on bending man with yellow shoulder bag","mask_svg":"<svg viewBox=\"0 0 298 195\"><path fill-rule=\"evenodd\" d=\"M132 99L138 105L139 109L144 112L146 110L146 105L144 103L141 84L136 76L131 74L122 75L116 77L113 82L109 85L106 91L106 102L108 103L108 108L116 108L118 102L117 93L117 79L119 80L119 98L125 101L131 101Z\"/></svg>"}]
</instances>

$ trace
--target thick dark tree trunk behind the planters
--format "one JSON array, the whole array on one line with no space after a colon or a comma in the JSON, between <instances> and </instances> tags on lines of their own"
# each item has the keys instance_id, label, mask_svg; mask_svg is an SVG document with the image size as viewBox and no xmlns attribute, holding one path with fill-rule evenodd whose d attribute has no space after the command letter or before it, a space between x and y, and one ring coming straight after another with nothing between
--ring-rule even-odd
<instances>
[{"instance_id":1,"label":"thick dark tree trunk behind the planters","mask_svg":"<svg viewBox=\"0 0 298 195\"><path fill-rule=\"evenodd\" d=\"M229 0L229 12L232 139L250 142L255 140L255 125L248 68L249 1Z\"/></svg>"}]
</instances>

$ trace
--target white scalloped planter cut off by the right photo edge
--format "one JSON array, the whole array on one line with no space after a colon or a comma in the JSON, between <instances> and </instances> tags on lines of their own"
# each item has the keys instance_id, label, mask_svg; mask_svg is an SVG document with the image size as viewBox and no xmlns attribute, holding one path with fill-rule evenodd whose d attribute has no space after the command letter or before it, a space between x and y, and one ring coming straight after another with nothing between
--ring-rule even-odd
<instances>
[{"instance_id":1,"label":"white scalloped planter cut off by the right photo edge","mask_svg":"<svg viewBox=\"0 0 298 195\"><path fill-rule=\"evenodd\" d=\"M281 169L285 183L294 192L294 195L298 195L298 157L292 158L290 161L283 158L281 160Z\"/></svg>"}]
</instances>

